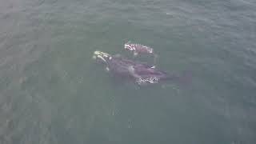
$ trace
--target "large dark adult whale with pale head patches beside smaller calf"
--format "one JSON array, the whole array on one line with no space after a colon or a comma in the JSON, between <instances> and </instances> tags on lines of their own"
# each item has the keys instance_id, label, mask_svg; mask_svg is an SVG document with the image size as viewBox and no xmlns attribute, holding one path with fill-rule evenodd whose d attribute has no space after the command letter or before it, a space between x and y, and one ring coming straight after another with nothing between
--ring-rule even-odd
<instances>
[{"instance_id":1,"label":"large dark adult whale with pale head patches beside smaller calf","mask_svg":"<svg viewBox=\"0 0 256 144\"><path fill-rule=\"evenodd\" d=\"M100 53L98 52L97 54ZM139 85L158 83L174 78L174 75L157 70L154 66L150 66L145 62L135 62L119 55L111 56L110 54L98 57L106 63L110 73L125 78L133 78Z\"/></svg>"}]
</instances>

